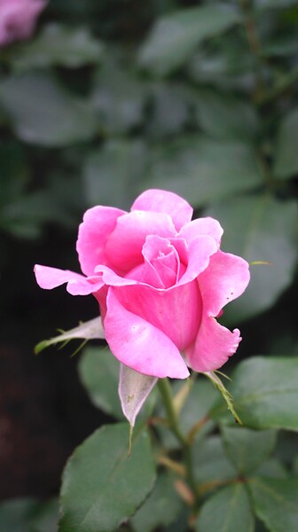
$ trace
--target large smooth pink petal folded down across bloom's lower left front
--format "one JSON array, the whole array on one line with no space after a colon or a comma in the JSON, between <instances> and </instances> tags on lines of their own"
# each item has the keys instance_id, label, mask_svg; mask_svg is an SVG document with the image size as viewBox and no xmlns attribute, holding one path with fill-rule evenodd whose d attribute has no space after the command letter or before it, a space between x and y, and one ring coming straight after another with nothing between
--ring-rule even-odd
<instances>
[{"instance_id":1,"label":"large smooth pink petal folded down across bloom's lower left front","mask_svg":"<svg viewBox=\"0 0 298 532\"><path fill-rule=\"evenodd\" d=\"M106 341L122 364L136 372L163 379L186 379L184 359L168 336L125 309L110 288L104 322Z\"/></svg>"}]
</instances>

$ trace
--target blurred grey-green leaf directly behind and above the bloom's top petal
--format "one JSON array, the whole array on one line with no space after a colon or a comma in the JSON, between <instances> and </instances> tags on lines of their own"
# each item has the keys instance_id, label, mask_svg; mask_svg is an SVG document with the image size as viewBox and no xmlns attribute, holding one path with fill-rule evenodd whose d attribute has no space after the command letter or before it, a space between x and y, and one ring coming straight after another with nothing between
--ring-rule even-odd
<instances>
[{"instance_id":1,"label":"blurred grey-green leaf directly behind and above the bloom's top petal","mask_svg":"<svg viewBox=\"0 0 298 532\"><path fill-rule=\"evenodd\" d=\"M176 192L200 207L252 190L263 180L250 145L195 136L153 153L147 184Z\"/></svg>"}]
</instances>

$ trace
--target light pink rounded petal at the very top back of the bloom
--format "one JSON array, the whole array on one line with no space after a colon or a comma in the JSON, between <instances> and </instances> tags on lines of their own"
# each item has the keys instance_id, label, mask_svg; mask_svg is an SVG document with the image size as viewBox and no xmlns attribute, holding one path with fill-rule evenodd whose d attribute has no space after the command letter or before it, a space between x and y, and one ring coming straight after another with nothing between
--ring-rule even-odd
<instances>
[{"instance_id":1,"label":"light pink rounded petal at the very top back of the bloom","mask_svg":"<svg viewBox=\"0 0 298 532\"><path fill-rule=\"evenodd\" d=\"M133 203L131 210L145 210L167 213L172 218L176 230L192 220L192 207L174 192L151 189L143 192Z\"/></svg>"}]
</instances>

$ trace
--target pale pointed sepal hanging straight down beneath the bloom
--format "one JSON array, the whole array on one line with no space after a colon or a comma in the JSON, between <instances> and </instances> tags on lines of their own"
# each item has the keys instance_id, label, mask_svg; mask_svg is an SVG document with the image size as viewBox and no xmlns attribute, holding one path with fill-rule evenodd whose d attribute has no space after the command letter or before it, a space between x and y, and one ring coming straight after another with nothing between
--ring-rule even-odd
<instances>
[{"instance_id":1,"label":"pale pointed sepal hanging straight down beneath the bloom","mask_svg":"<svg viewBox=\"0 0 298 532\"><path fill-rule=\"evenodd\" d=\"M131 368L124 364L120 364L119 396L122 404L122 412L126 419L128 419L131 427L135 426L137 414L156 382L156 377L143 375L142 373L131 370Z\"/></svg>"}]
</instances>

